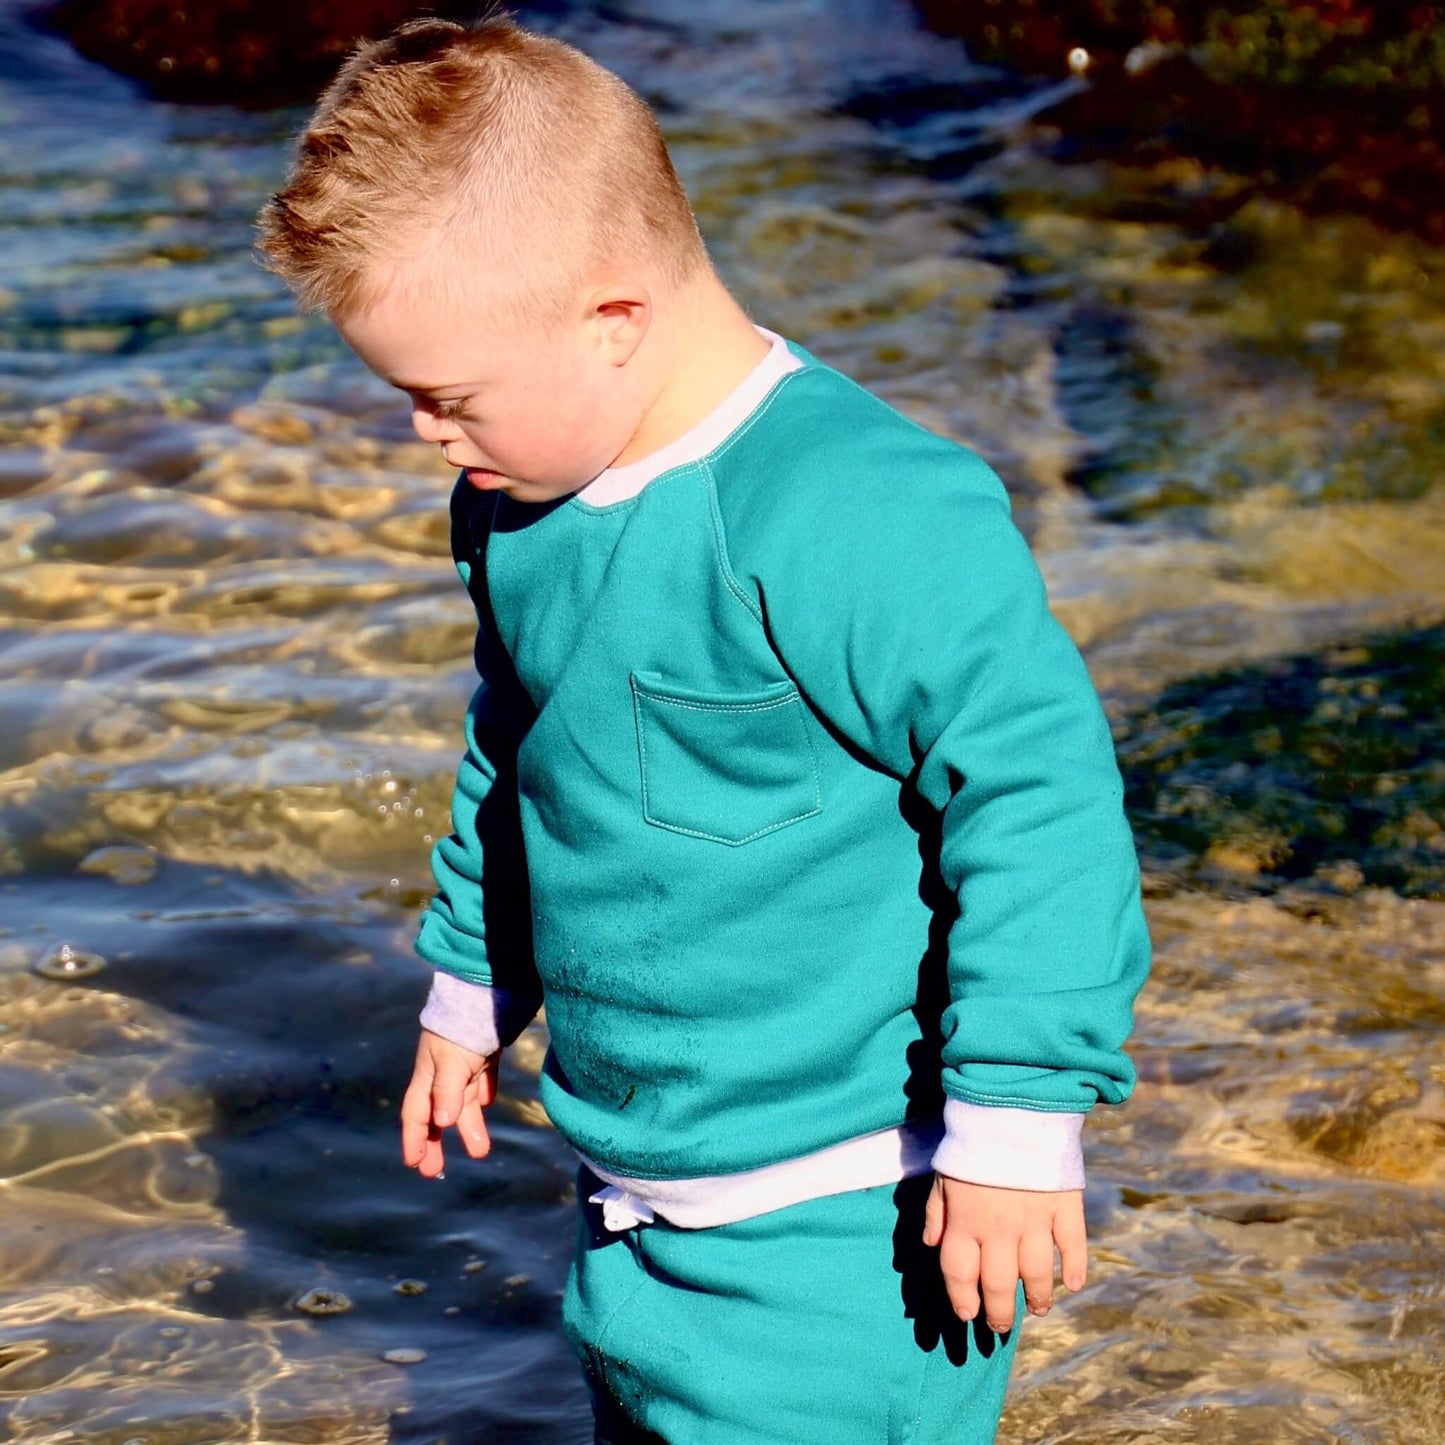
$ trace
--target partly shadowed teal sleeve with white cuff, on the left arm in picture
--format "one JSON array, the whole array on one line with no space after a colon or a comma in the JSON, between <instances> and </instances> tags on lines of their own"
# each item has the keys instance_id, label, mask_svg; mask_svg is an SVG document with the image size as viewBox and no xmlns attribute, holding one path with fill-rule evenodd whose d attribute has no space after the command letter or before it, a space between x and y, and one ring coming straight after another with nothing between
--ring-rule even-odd
<instances>
[{"instance_id":1,"label":"partly shadowed teal sleeve with white cuff, on the left arm in picture","mask_svg":"<svg viewBox=\"0 0 1445 1445\"><path fill-rule=\"evenodd\" d=\"M436 1022L434 1010L445 1004L452 1033L460 1029L490 1042L490 1029L501 1046L536 1014L542 985L532 957L532 903L517 805L517 747L535 709L497 636L487 597L486 529L494 501L465 480L452 493L452 556L477 610L480 685L464 724L467 750L452 793L452 832L432 850L438 892L422 915L416 952L452 980L439 985L439 994L434 980L423 1026L429 1027L428 1014ZM458 988L458 983L474 991Z\"/></svg>"}]
</instances>

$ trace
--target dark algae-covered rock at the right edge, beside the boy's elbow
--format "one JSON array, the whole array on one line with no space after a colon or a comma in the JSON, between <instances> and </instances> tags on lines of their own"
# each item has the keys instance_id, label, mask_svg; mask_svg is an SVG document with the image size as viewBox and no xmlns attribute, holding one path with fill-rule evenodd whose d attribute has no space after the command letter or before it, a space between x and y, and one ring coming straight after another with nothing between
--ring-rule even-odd
<instances>
[{"instance_id":1,"label":"dark algae-covered rock at the right edge, beside the boy's elbow","mask_svg":"<svg viewBox=\"0 0 1445 1445\"><path fill-rule=\"evenodd\" d=\"M1120 728L1146 861L1445 897L1445 626L1196 678Z\"/></svg>"}]
</instances>

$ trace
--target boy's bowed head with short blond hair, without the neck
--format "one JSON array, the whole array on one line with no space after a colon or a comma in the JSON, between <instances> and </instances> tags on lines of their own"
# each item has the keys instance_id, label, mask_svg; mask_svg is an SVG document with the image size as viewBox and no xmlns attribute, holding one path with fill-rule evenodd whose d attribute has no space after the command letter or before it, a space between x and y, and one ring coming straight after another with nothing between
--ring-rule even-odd
<instances>
[{"instance_id":1,"label":"boy's bowed head with short blond hair, without the neck","mask_svg":"<svg viewBox=\"0 0 1445 1445\"><path fill-rule=\"evenodd\" d=\"M363 45L259 249L410 394L426 441L527 500L623 449L640 403L626 363L659 295L709 270L642 98L506 17Z\"/></svg>"}]
</instances>

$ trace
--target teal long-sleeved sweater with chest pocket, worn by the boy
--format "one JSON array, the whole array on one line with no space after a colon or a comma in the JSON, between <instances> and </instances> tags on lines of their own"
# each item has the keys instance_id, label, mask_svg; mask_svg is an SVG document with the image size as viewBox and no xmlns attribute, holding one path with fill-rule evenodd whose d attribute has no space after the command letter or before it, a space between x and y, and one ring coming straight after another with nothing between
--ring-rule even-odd
<instances>
[{"instance_id":1,"label":"teal long-sleeved sweater with chest pocket, worn by the boy","mask_svg":"<svg viewBox=\"0 0 1445 1445\"><path fill-rule=\"evenodd\" d=\"M416 946L546 1003L548 1114L637 1179L1134 1082L1113 743L1003 484L795 350L627 501L452 494L481 685Z\"/></svg>"}]
</instances>

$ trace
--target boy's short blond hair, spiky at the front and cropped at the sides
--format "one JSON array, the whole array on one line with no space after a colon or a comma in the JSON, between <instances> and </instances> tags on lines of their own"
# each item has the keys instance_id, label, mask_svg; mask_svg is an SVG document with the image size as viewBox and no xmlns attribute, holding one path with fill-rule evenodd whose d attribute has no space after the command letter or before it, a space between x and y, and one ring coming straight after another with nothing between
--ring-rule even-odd
<instances>
[{"instance_id":1,"label":"boy's short blond hair, spiky at the front and cropped at the sides","mask_svg":"<svg viewBox=\"0 0 1445 1445\"><path fill-rule=\"evenodd\" d=\"M486 267L532 305L608 260L683 280L707 256L642 97L506 14L358 46L257 220L262 263L308 311L364 308L438 247L444 289Z\"/></svg>"}]
</instances>

